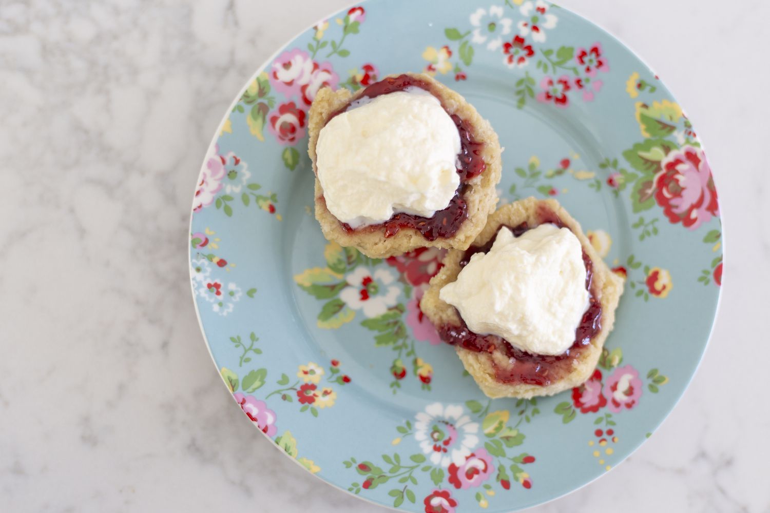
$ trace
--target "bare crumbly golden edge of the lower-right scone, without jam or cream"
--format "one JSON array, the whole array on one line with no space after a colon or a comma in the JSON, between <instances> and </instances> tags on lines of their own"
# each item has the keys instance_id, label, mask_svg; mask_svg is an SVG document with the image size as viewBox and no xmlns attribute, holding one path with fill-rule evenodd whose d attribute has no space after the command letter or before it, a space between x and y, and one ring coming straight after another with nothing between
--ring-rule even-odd
<instances>
[{"instance_id":1,"label":"bare crumbly golden edge of the lower-right scone, without jam or cream","mask_svg":"<svg viewBox=\"0 0 770 513\"><path fill-rule=\"evenodd\" d=\"M531 398L537 395L554 395L561 391L581 385L596 368L596 364L601 355L601 348L604 341L612 331L615 321L615 308L618 308L618 301L623 293L623 278L610 270L604 260L597 254L591 243L588 242L581 230L580 225L574 218L567 213L561 205L553 199L538 200L537 198L526 198L519 202L511 203L500 207L497 212L489 216L487 226L478 235L474 245L484 245L490 241L501 225L517 226L523 222L529 225L539 225L540 219L537 215L538 208L544 205L554 212L564 223L564 226L570 228L574 235L581 242L584 251L591 258L594 264L593 290L601 303L601 330L591 340L591 346L587 351L581 354L581 357L573 362L572 371L558 381L551 382L550 385L508 385L497 381L494 373L493 359L497 355L499 358L505 358L502 353L495 351L492 355L489 353L478 353L468 349L456 347L457 355L463 362L465 369L474 377L477 385L490 398L515 397ZM460 273L460 259L463 257L461 251L450 251L444 257L444 267L439 273L430 280L430 288L423 295L420 301L420 309L430 319L435 326L441 325L459 325L460 315L457 310L439 298L439 291L444 285L455 281Z\"/></svg>"}]
</instances>

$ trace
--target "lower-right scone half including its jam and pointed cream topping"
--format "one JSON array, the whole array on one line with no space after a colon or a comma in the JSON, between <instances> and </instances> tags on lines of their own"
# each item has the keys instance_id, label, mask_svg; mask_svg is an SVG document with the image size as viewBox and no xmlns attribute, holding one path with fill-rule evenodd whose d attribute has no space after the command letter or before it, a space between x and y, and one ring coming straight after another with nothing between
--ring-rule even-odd
<instances>
[{"instance_id":1,"label":"lower-right scone half including its jam and pointed cream topping","mask_svg":"<svg viewBox=\"0 0 770 513\"><path fill-rule=\"evenodd\" d=\"M503 234L504 227L510 232ZM420 309L441 338L455 345L484 394L531 398L557 394L591 376L622 291L622 278L561 205L527 198L490 215L466 252L447 252Z\"/></svg>"}]
</instances>

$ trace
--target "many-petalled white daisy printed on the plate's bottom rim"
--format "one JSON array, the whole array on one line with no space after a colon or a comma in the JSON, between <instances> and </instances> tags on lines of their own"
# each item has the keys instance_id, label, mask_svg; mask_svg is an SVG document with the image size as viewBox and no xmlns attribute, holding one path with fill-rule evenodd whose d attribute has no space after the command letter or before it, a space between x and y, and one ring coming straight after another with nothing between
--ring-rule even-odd
<instances>
[{"instance_id":1,"label":"many-petalled white daisy printed on the plate's bottom rim","mask_svg":"<svg viewBox=\"0 0 770 513\"><path fill-rule=\"evenodd\" d=\"M479 443L479 425L464 415L460 405L434 402L415 416L414 439L420 449L430 455L430 462L446 468L451 463L462 465Z\"/></svg>"}]
</instances>

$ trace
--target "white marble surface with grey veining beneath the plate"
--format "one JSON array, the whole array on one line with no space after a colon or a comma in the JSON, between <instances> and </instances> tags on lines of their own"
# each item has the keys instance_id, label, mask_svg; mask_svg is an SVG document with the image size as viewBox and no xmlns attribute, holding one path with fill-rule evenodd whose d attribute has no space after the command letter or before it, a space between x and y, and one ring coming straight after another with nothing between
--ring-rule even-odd
<instances>
[{"instance_id":1,"label":"white marble surface with grey veining beneath the plate","mask_svg":"<svg viewBox=\"0 0 770 513\"><path fill-rule=\"evenodd\" d=\"M384 511L243 421L186 267L192 180L233 95L347 3L0 2L0 511ZM770 511L770 4L564 5L628 42L688 109L721 193L726 285L665 425L531 511Z\"/></svg>"}]
</instances>

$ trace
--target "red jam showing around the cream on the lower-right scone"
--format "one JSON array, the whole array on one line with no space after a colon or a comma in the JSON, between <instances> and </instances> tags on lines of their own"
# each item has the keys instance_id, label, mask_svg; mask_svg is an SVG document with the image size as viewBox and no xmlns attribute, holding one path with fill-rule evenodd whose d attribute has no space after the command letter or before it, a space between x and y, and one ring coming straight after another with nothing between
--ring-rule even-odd
<instances>
[{"instance_id":1,"label":"red jam showing around the cream on the lower-right scone","mask_svg":"<svg viewBox=\"0 0 770 513\"><path fill-rule=\"evenodd\" d=\"M538 211L540 224L553 223L559 228L564 224L550 209L541 208ZM535 226L527 223L508 227L517 237ZM494 237L483 246L471 246L460 260L463 267L470 261L470 257L476 253L486 253L492 247ZM585 288L589 294L588 308L581 318L581 322L575 329L575 339L567 351L561 355L534 355L521 349L514 348L510 342L495 335L479 335L470 331L465 322L460 318L460 325L444 325L439 328L441 340L450 345L459 345L469 351L493 353L500 351L508 360L507 365L500 365L497 359L493 359L495 378L497 381L508 385L551 385L552 382L563 378L572 371L574 362L588 350L591 340L601 330L601 303L596 298L592 287L594 277L594 264L586 252L583 252L586 278ZM458 313L459 317L459 313Z\"/></svg>"}]
</instances>

